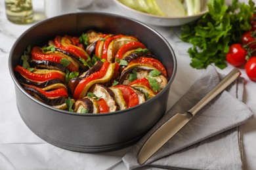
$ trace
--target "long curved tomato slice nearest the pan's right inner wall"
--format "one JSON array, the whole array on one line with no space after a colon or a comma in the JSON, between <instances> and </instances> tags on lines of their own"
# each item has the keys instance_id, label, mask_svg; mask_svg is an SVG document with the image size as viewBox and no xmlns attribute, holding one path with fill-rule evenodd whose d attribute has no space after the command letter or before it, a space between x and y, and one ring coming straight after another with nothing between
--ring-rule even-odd
<instances>
[{"instance_id":1,"label":"long curved tomato slice nearest the pan's right inner wall","mask_svg":"<svg viewBox=\"0 0 256 170\"><path fill-rule=\"evenodd\" d=\"M133 59L133 61L131 61L127 65L127 67L129 67L130 65L133 65L134 63L142 63L142 64L147 64L147 65L152 65L153 67L158 69L158 71L160 71L164 76L167 76L167 71L166 71L165 67L158 59L141 56L137 59Z\"/></svg>"}]
</instances>

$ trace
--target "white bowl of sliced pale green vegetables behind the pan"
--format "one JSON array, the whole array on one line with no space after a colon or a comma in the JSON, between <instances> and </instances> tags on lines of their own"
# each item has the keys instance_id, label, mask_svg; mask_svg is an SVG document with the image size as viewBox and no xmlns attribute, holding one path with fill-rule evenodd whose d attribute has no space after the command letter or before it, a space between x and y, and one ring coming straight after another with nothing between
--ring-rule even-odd
<instances>
[{"instance_id":1,"label":"white bowl of sliced pale green vegetables behind the pan","mask_svg":"<svg viewBox=\"0 0 256 170\"><path fill-rule=\"evenodd\" d=\"M131 16L131 18L134 18L135 20L139 20L140 22L144 22L146 24L152 24L152 25L159 25L159 26L179 26L183 24L188 24L189 22L192 22L194 20L197 20L203 14L208 12L207 3L204 3L204 5L201 8L201 11L199 14L195 14L192 16L184 16L184 17L165 17L165 16L156 16L153 14L148 14L145 12L140 12L139 10L131 9L130 7L127 7L120 3L118 0L114 0L117 7L121 9L125 14L128 16Z\"/></svg>"}]
</instances>

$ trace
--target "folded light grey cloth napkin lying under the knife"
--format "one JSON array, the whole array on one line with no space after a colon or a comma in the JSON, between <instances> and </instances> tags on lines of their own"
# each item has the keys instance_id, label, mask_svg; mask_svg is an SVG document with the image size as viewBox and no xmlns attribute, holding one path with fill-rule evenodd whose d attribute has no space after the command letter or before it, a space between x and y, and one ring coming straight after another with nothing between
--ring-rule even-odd
<instances>
[{"instance_id":1,"label":"folded light grey cloth napkin lying under the knife","mask_svg":"<svg viewBox=\"0 0 256 170\"><path fill-rule=\"evenodd\" d=\"M240 77L226 91L203 107L188 124L165 143L143 165L137 156L146 140L177 112L191 109L217 85L223 75L214 67L205 73L171 107L140 141L123 156L128 169L150 166L165 169L242 169L240 127L253 117L242 103L244 78Z\"/></svg>"}]
</instances>

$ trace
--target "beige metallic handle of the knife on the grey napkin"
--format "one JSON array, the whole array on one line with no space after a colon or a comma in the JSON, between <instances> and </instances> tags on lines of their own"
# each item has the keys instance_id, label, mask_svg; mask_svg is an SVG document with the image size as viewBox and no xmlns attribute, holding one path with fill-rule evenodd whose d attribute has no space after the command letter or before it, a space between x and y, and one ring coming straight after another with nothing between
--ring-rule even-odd
<instances>
[{"instance_id":1,"label":"beige metallic handle of the knife on the grey napkin","mask_svg":"<svg viewBox=\"0 0 256 170\"><path fill-rule=\"evenodd\" d=\"M209 101L211 101L214 97L216 97L219 93L223 92L223 90L228 87L241 73L238 69L233 69L228 75L226 75L215 88L213 88L203 99L201 99L192 109L188 110L193 116L202 109Z\"/></svg>"}]
</instances>

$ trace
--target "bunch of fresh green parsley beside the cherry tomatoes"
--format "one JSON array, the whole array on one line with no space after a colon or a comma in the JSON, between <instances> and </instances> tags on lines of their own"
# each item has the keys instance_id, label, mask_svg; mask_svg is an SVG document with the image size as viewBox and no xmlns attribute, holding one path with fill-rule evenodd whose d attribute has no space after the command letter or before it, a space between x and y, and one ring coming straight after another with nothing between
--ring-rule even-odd
<instances>
[{"instance_id":1,"label":"bunch of fresh green parsley beside the cherry tomatoes","mask_svg":"<svg viewBox=\"0 0 256 170\"><path fill-rule=\"evenodd\" d=\"M252 0L248 5L232 0L228 6L224 0L209 0L207 7L209 12L202 18L182 25L181 39L193 44L188 49L192 67L204 69L214 63L224 69L229 46L240 42L243 33L251 29L250 19L255 4Z\"/></svg>"}]
</instances>

